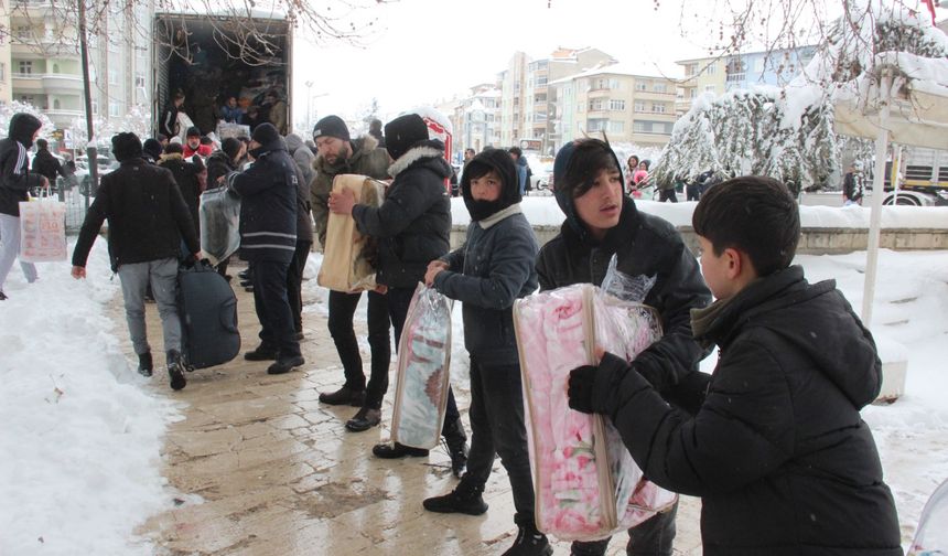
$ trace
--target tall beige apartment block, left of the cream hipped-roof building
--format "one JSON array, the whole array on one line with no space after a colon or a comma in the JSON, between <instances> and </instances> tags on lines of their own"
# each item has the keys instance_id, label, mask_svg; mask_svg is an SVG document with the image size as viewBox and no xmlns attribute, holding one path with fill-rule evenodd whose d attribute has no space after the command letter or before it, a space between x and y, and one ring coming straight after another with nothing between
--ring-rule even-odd
<instances>
[{"instance_id":1,"label":"tall beige apartment block, left of the cream hipped-roof building","mask_svg":"<svg viewBox=\"0 0 948 556\"><path fill-rule=\"evenodd\" d=\"M614 64L615 58L596 49L558 49L549 57L531 60L523 52L510 58L500 73L500 143L528 143L549 153L560 138L554 125L556 90L550 83L591 67Z\"/></svg>"}]
</instances>

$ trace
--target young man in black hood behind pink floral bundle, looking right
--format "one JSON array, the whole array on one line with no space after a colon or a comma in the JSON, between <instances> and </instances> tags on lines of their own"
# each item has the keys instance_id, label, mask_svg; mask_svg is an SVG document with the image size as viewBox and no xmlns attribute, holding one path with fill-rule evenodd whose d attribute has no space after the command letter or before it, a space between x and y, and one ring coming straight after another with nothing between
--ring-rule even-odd
<instances>
[{"instance_id":1,"label":"young man in black hood behind pink floral bundle, looking right","mask_svg":"<svg viewBox=\"0 0 948 556\"><path fill-rule=\"evenodd\" d=\"M601 285L610 259L638 284L638 301L661 317L664 334L642 352L634 365L656 389L671 392L679 383L705 383L698 362L705 352L691 336L690 311L711 301L694 256L675 227L640 213L623 193L620 162L599 139L564 145L553 165L557 203L567 221L537 258L540 289L573 284ZM688 405L687 399L675 399ZM629 555L671 555L677 504L629 530ZM572 554L605 554L608 538L573 543Z\"/></svg>"}]
</instances>

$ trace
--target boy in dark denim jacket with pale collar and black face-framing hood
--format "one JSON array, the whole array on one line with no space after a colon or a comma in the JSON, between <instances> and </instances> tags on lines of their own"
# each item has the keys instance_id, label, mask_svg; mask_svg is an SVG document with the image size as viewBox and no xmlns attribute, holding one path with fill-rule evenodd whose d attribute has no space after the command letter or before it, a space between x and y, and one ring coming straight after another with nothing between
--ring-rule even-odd
<instances>
[{"instance_id":1,"label":"boy in dark denim jacket with pale collar and black face-framing hood","mask_svg":"<svg viewBox=\"0 0 948 556\"><path fill-rule=\"evenodd\" d=\"M481 493L491 477L494 455L507 470L520 532L505 554L549 555L553 549L537 531L534 483L524 421L524 393L514 301L537 289L532 261L539 247L520 211L517 169L507 152L487 149L461 179L471 213L464 246L428 265L424 281L464 303L464 346L471 354L471 453L467 472L452 492L424 501L441 513L480 515L487 511Z\"/></svg>"}]
</instances>

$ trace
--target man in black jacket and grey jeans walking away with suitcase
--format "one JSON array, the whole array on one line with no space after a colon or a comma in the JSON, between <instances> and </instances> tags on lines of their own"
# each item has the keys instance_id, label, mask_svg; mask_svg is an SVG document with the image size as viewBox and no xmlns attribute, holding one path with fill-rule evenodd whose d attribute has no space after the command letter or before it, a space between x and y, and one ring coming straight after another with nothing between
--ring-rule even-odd
<instances>
[{"instance_id":1,"label":"man in black jacket and grey jeans walking away with suitcase","mask_svg":"<svg viewBox=\"0 0 948 556\"><path fill-rule=\"evenodd\" d=\"M144 323L144 292L149 284L161 314L168 374L171 387L181 389L181 320L177 314L177 260L181 240L198 258L201 247L187 205L171 172L142 158L134 133L112 137L112 153L120 167L103 177L95 202L83 222L73 252L73 278L86 277L86 260L105 220L109 221L109 258L118 272L125 299L126 320L139 359L139 373L152 374L151 348Z\"/></svg>"}]
</instances>

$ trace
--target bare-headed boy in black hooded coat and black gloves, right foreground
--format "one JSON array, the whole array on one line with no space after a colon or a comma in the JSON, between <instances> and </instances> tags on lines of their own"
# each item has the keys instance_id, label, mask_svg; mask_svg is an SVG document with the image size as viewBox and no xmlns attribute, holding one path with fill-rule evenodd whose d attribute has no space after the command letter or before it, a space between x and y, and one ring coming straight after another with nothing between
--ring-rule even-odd
<instances>
[{"instance_id":1,"label":"bare-headed boy in black hooded coat and black gloves, right foreground","mask_svg":"<svg viewBox=\"0 0 948 556\"><path fill-rule=\"evenodd\" d=\"M570 406L607 415L645 474L701 496L705 556L901 555L895 505L859 410L881 363L832 280L789 266L793 196L768 178L709 190L692 216L718 300L692 311L720 360L697 414L670 407L625 361L570 375Z\"/></svg>"}]
</instances>

